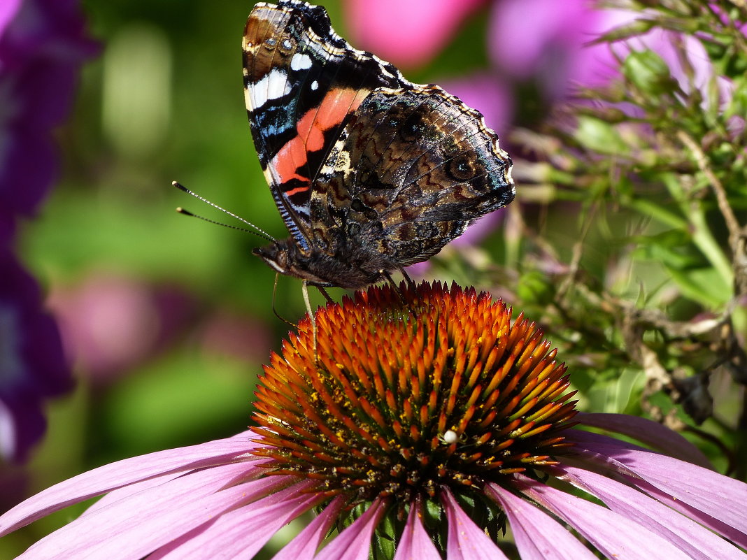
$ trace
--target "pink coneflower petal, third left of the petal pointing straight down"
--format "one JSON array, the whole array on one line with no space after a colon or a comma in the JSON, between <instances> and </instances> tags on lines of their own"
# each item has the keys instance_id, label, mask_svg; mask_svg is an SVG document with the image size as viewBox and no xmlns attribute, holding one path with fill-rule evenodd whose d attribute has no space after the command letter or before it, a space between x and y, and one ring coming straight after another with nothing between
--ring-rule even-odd
<instances>
[{"instance_id":1,"label":"pink coneflower petal, third left of the petal pointing straight down","mask_svg":"<svg viewBox=\"0 0 747 560\"><path fill-rule=\"evenodd\" d=\"M161 547L148 560L252 558L282 526L323 500L320 494L304 492L308 488L308 483L294 485L228 511Z\"/></svg>"}]
</instances>

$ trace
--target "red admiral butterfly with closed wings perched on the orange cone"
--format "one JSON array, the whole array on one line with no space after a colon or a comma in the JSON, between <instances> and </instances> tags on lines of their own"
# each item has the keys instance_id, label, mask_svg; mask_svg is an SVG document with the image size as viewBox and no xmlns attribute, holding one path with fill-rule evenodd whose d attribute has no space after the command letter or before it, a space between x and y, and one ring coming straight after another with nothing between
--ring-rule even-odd
<instances>
[{"instance_id":1,"label":"red admiral butterfly with closed wings perched on the orange cone","mask_svg":"<svg viewBox=\"0 0 747 560\"><path fill-rule=\"evenodd\" d=\"M323 7L257 4L243 46L252 137L291 232L254 254L279 273L364 287L514 199L483 116L353 49Z\"/></svg>"}]
</instances>

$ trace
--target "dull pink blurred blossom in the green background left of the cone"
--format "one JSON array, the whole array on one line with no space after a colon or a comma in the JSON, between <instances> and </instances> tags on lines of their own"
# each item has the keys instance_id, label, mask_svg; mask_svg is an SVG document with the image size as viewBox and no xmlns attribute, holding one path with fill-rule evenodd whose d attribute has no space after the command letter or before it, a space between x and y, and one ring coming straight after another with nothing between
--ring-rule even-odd
<instances>
[{"instance_id":1,"label":"dull pink blurred blossom in the green background left of the cone","mask_svg":"<svg viewBox=\"0 0 747 560\"><path fill-rule=\"evenodd\" d=\"M179 287L115 273L91 273L56 286L49 307L67 355L93 384L106 384L179 339L211 355L256 361L266 355L266 329L252 319L204 304Z\"/></svg>"}]
</instances>

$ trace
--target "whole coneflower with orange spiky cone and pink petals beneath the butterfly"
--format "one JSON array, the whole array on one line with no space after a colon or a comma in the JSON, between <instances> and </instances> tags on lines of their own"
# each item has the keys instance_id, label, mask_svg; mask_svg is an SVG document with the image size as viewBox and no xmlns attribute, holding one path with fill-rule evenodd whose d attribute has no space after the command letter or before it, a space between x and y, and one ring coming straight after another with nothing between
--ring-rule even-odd
<instances>
[{"instance_id":1,"label":"whole coneflower with orange spiky cone and pink petals beneath the butterfly","mask_svg":"<svg viewBox=\"0 0 747 560\"><path fill-rule=\"evenodd\" d=\"M373 287L272 355L258 428L75 476L2 515L0 535L106 494L19 560L249 560L314 508L274 559L365 560L377 535L377 558L503 560L506 526L522 560L746 559L747 485L651 420L576 414L568 385L502 302Z\"/></svg>"}]
</instances>

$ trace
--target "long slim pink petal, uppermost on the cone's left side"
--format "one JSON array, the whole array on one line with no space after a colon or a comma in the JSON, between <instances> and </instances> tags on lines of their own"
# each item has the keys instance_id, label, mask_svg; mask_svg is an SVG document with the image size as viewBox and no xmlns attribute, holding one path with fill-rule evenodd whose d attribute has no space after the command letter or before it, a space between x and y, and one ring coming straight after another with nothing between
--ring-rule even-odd
<instances>
[{"instance_id":1,"label":"long slim pink petal, uppermost on the cone's left side","mask_svg":"<svg viewBox=\"0 0 747 560\"><path fill-rule=\"evenodd\" d=\"M0 537L52 511L58 511L67 505L88 500L132 482L235 461L246 455L250 449L257 447L257 444L249 441L251 436L252 432L247 431L232 438L140 455L74 476L41 491L1 515ZM257 464L258 461L246 462L244 468L250 471L255 469Z\"/></svg>"}]
</instances>

